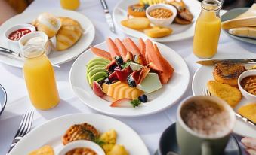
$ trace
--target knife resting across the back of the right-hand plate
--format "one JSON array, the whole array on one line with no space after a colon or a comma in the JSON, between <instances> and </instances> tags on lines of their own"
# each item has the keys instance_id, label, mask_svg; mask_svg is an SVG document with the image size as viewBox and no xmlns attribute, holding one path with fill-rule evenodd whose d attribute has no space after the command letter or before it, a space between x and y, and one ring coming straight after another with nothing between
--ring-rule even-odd
<instances>
[{"instance_id":1,"label":"knife resting across the back of the right-hand plate","mask_svg":"<svg viewBox=\"0 0 256 155\"><path fill-rule=\"evenodd\" d=\"M230 62L230 63L252 63L256 62L256 59L209 59L209 60L202 60L196 63L201 65L216 65L220 62Z\"/></svg>"}]
</instances>

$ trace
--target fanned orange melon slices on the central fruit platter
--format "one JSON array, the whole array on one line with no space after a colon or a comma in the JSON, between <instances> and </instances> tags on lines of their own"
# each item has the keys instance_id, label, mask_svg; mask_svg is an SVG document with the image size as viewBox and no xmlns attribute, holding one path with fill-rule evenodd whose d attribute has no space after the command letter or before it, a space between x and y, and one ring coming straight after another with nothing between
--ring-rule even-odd
<instances>
[{"instance_id":1,"label":"fanned orange melon slices on the central fruit platter","mask_svg":"<svg viewBox=\"0 0 256 155\"><path fill-rule=\"evenodd\" d=\"M129 87L121 81L114 84L103 84L103 92L114 99L137 99L144 92L135 87Z\"/></svg>"}]
</instances>

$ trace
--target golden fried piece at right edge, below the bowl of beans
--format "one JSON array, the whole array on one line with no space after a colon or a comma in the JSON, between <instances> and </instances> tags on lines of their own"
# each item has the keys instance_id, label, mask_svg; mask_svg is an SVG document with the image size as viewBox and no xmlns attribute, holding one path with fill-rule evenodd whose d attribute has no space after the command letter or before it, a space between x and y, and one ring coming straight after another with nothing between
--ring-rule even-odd
<instances>
[{"instance_id":1,"label":"golden fried piece at right edge, below the bowl of beans","mask_svg":"<svg viewBox=\"0 0 256 155\"><path fill-rule=\"evenodd\" d=\"M256 103L243 105L238 109L238 113L256 123Z\"/></svg>"}]
</instances>

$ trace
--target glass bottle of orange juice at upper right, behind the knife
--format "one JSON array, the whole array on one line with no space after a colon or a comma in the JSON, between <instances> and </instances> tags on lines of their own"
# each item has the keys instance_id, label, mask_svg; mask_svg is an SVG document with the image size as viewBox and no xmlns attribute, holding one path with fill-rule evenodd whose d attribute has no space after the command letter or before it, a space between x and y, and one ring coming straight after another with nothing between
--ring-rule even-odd
<instances>
[{"instance_id":1,"label":"glass bottle of orange juice at upper right, behind the knife","mask_svg":"<svg viewBox=\"0 0 256 155\"><path fill-rule=\"evenodd\" d=\"M222 4L218 0L204 0L201 6L201 13L196 20L193 53L199 58L209 59L217 53L221 32L219 11Z\"/></svg>"}]
</instances>

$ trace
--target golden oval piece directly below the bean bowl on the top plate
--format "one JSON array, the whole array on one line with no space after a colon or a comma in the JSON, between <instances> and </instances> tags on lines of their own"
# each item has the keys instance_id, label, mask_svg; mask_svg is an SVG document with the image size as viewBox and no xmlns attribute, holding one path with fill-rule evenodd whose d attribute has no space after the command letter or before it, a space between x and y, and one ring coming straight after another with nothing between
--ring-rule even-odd
<instances>
[{"instance_id":1,"label":"golden oval piece directly below the bean bowl on the top plate","mask_svg":"<svg viewBox=\"0 0 256 155\"><path fill-rule=\"evenodd\" d=\"M171 35L172 32L173 30L170 28L159 27L159 26L154 26L151 29L144 30L144 33L151 38L162 38L162 37Z\"/></svg>"}]
</instances>

